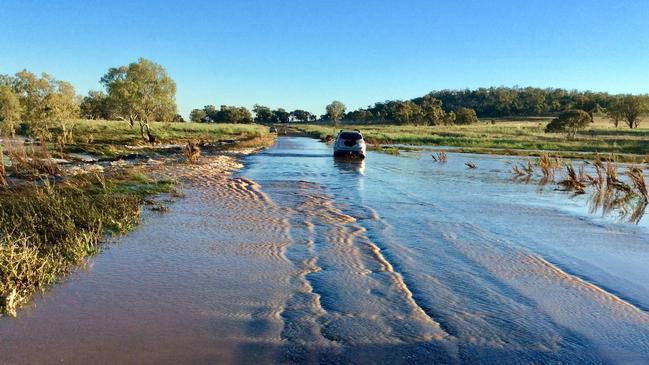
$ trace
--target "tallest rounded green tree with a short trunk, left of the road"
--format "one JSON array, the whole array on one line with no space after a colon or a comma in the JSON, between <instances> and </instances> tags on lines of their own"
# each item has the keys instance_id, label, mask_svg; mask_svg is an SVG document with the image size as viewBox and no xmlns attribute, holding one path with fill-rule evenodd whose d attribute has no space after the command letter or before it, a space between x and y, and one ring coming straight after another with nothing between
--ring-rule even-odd
<instances>
[{"instance_id":1,"label":"tallest rounded green tree with a short trunk, left of the road","mask_svg":"<svg viewBox=\"0 0 649 365\"><path fill-rule=\"evenodd\" d=\"M137 121L142 138L149 142L155 140L149 123L171 120L176 114L176 83L155 62L140 58L128 66L111 68L101 83L116 105L116 115L131 127Z\"/></svg>"}]
</instances>

